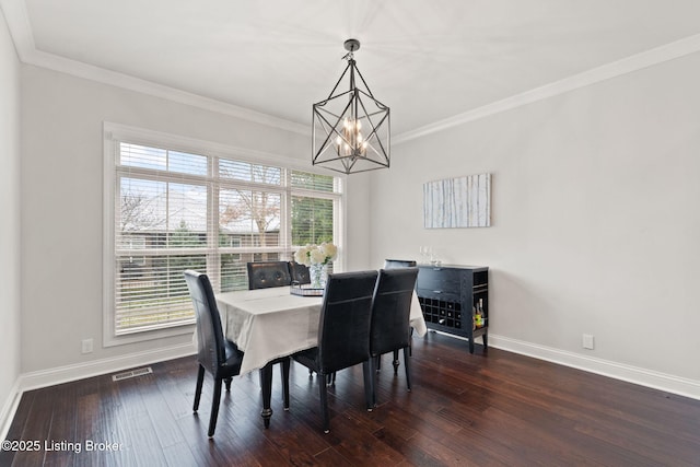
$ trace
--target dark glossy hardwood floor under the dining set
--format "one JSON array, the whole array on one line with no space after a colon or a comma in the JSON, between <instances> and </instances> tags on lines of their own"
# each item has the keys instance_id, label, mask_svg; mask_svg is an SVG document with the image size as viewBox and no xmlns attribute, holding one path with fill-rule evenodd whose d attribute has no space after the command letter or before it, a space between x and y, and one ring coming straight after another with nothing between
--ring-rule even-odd
<instances>
[{"instance_id":1,"label":"dark glossy hardwood floor under the dining set","mask_svg":"<svg viewBox=\"0 0 700 467\"><path fill-rule=\"evenodd\" d=\"M296 364L290 411L275 369L268 430L257 372L234 378L213 441L209 375L199 416L191 411L194 358L117 383L104 375L28 392L8 440L38 450L3 450L0 466L700 466L699 400L498 349L469 354L466 342L433 332L413 339L411 393L389 360L372 412L361 367L338 374L329 434L316 377Z\"/></svg>"}]
</instances>

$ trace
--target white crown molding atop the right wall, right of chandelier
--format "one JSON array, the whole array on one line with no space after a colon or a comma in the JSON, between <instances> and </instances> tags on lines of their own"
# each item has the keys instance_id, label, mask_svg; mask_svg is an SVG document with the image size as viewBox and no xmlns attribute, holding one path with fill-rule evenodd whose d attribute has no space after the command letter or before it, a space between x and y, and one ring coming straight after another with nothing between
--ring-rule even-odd
<instances>
[{"instance_id":1,"label":"white crown molding atop the right wall, right of chandelier","mask_svg":"<svg viewBox=\"0 0 700 467\"><path fill-rule=\"evenodd\" d=\"M470 121L475 121L490 115L499 114L501 112L510 110L526 104L532 104L534 102L541 101L548 97L553 97L569 91L574 91L581 87L588 86L591 84L599 83L611 78L631 73L633 71L663 63L665 61L684 57L686 55L695 54L697 51L700 51L700 34L696 34L693 36L689 36L661 47L642 51L640 54L626 57L621 60L593 68L579 74L573 74L571 77L564 78L563 80L535 87L530 91L526 91L524 93L520 93L511 97L487 104L472 110L465 112L464 114L445 118L444 120L435 121L434 124L427 125L410 132L397 135L396 137L394 137L393 142L396 144L400 144L407 141L415 140L417 138L422 138L428 135L444 131L459 125L468 124Z\"/></svg>"}]
</instances>

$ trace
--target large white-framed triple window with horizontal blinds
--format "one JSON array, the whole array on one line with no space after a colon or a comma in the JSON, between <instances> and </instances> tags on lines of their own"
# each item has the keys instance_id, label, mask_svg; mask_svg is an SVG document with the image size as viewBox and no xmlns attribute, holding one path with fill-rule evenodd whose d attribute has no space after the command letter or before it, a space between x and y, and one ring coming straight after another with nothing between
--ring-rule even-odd
<instances>
[{"instance_id":1,"label":"large white-framed triple window with horizontal blinds","mask_svg":"<svg viewBox=\"0 0 700 467\"><path fill-rule=\"evenodd\" d=\"M194 324L185 269L226 292L247 289L248 261L341 246L339 177L110 124L105 136L106 345Z\"/></svg>"}]
</instances>

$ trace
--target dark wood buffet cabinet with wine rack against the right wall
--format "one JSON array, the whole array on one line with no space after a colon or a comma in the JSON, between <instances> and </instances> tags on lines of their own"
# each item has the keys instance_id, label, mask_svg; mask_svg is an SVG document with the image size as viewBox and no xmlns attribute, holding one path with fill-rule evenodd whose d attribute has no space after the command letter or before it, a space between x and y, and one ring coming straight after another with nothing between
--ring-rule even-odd
<instances>
[{"instance_id":1,"label":"dark wood buffet cabinet with wine rack against the right wall","mask_svg":"<svg viewBox=\"0 0 700 467\"><path fill-rule=\"evenodd\" d=\"M469 340L481 337L488 348L489 268L482 266L418 266L416 293L428 329Z\"/></svg>"}]
</instances>

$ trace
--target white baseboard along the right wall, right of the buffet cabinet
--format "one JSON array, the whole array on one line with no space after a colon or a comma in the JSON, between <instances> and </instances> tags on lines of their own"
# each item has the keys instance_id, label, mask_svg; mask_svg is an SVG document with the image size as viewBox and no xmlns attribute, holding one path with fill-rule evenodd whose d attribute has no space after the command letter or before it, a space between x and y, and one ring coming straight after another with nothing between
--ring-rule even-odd
<instances>
[{"instance_id":1,"label":"white baseboard along the right wall, right of the buffet cabinet","mask_svg":"<svg viewBox=\"0 0 700 467\"><path fill-rule=\"evenodd\" d=\"M489 334L489 347L700 400L700 381Z\"/></svg>"}]
</instances>

